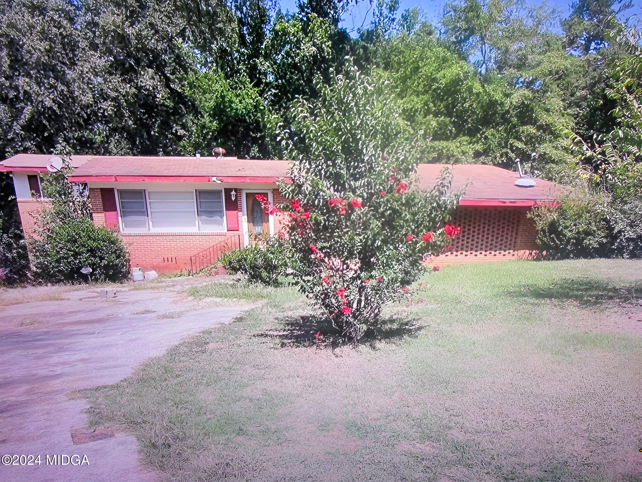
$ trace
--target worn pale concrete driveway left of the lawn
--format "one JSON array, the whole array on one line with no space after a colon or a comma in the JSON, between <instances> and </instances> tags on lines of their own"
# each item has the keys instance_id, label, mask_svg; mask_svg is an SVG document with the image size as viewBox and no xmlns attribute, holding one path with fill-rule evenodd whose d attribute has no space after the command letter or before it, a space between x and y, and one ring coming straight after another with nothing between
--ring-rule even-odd
<instances>
[{"instance_id":1,"label":"worn pale concrete driveway left of the lawn","mask_svg":"<svg viewBox=\"0 0 642 482\"><path fill-rule=\"evenodd\" d=\"M187 335L229 323L241 312L242 307L193 310L195 301L175 283L166 284L169 289L160 283L161 289L119 290L112 299L100 298L95 289L71 292L66 300L0 310L0 456L41 460L0 465L0 480L157 479L138 463L132 436L116 433L74 445L71 431L85 428L86 403L69 394L117 382ZM87 456L89 464L46 465L46 456L53 455L78 455L76 461Z\"/></svg>"}]
</instances>

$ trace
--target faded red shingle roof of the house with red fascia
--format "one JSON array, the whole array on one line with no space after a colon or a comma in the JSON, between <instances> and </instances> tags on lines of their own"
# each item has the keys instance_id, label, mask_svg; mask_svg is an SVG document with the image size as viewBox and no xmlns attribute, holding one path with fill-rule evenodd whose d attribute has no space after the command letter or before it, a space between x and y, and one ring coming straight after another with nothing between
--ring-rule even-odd
<instances>
[{"instance_id":1,"label":"faded red shingle roof of the house with red fascia","mask_svg":"<svg viewBox=\"0 0 642 482\"><path fill-rule=\"evenodd\" d=\"M18 154L0 163L0 170L43 170L48 155ZM76 166L71 181L211 181L211 177L226 182L273 183L286 177L287 161L236 159L236 157L147 157L147 156L71 156ZM549 201L559 195L562 186L536 179L532 188L515 185L519 174L496 166L482 164L420 164L417 170L419 185L432 188L444 167L453 170L453 190L467 186L462 204L533 204ZM479 202L478 202L479 201Z\"/></svg>"}]
</instances>

